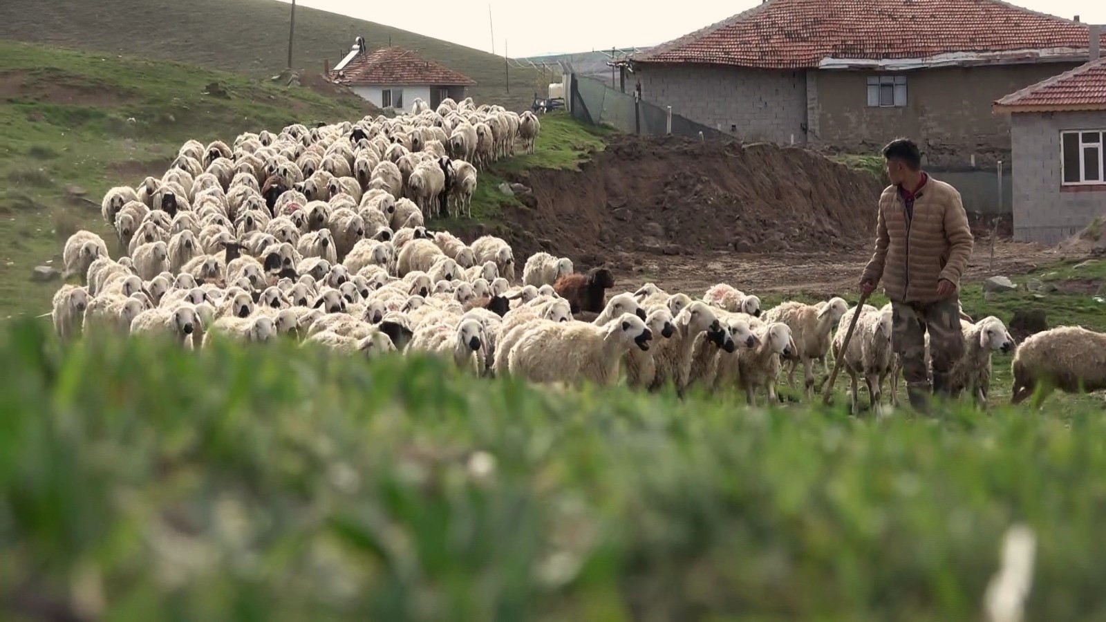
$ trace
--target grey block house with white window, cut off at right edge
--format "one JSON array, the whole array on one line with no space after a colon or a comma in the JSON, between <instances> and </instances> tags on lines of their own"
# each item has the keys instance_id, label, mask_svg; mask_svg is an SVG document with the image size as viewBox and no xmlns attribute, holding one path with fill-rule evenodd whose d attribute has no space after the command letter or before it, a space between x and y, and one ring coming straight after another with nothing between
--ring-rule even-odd
<instances>
[{"instance_id":1,"label":"grey block house with white window, cut off at right edge","mask_svg":"<svg viewBox=\"0 0 1106 622\"><path fill-rule=\"evenodd\" d=\"M1014 239L1056 243L1106 216L1106 58L1015 91L993 110L1010 118Z\"/></svg>"}]
</instances>

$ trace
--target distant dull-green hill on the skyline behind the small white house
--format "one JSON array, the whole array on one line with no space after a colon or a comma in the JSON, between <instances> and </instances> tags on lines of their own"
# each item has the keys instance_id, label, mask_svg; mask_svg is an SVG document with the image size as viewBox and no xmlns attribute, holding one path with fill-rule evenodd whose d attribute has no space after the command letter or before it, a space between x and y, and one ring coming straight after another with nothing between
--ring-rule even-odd
<instances>
[{"instance_id":1,"label":"distant dull-green hill on the skyline behind the small white house","mask_svg":"<svg viewBox=\"0 0 1106 622\"><path fill-rule=\"evenodd\" d=\"M288 63L290 6L272 0L4 0L0 39L173 60L259 76ZM362 35L369 46L388 41L437 60L477 81L469 93L481 102L529 108L547 75L511 69L503 58L414 32L296 7L295 69L321 73Z\"/></svg>"}]
</instances>

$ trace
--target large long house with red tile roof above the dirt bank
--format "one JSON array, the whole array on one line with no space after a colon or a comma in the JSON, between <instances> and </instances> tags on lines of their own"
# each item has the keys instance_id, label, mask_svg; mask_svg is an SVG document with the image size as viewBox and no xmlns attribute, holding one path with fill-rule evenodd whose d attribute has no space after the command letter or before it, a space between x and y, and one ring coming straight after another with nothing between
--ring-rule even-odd
<instances>
[{"instance_id":1,"label":"large long house with red tile roof above the dirt bank","mask_svg":"<svg viewBox=\"0 0 1106 622\"><path fill-rule=\"evenodd\" d=\"M629 68L644 100L747 141L876 153L908 136L927 166L993 169L1010 133L991 103L1086 62L1089 40L1000 0L768 0Z\"/></svg>"}]
</instances>

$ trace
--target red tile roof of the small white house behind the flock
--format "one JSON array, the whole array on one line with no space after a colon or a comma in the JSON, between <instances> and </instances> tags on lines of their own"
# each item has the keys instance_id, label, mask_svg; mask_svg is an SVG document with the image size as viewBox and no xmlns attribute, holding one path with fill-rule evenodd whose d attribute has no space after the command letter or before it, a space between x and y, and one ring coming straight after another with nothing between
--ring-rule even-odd
<instances>
[{"instance_id":1,"label":"red tile roof of the small white house behind the flock","mask_svg":"<svg viewBox=\"0 0 1106 622\"><path fill-rule=\"evenodd\" d=\"M430 86L472 86L471 77L424 59L403 48L380 48L357 56L341 71L331 71L340 84L428 84Z\"/></svg>"}]
</instances>

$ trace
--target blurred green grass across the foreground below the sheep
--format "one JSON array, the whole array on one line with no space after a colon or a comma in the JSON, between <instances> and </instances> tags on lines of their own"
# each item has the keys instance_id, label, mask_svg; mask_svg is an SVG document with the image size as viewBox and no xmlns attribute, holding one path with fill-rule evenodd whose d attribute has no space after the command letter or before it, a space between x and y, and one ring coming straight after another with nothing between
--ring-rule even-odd
<instances>
[{"instance_id":1,"label":"blurred green grass across the foreground below the sheep","mask_svg":"<svg viewBox=\"0 0 1106 622\"><path fill-rule=\"evenodd\" d=\"M2 328L4 620L1106 619L1106 424L550 392Z\"/></svg>"}]
</instances>

